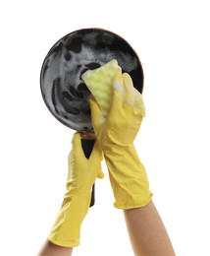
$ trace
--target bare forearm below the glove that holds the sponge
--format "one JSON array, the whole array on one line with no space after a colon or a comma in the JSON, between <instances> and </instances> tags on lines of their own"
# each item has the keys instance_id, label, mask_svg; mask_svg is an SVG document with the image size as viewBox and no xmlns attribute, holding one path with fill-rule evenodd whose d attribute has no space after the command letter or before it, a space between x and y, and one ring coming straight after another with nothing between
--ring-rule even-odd
<instances>
[{"instance_id":1,"label":"bare forearm below the glove that holds the sponge","mask_svg":"<svg viewBox=\"0 0 210 256\"><path fill-rule=\"evenodd\" d=\"M135 256L174 256L167 230L151 201L148 205L124 210Z\"/></svg>"}]
</instances>

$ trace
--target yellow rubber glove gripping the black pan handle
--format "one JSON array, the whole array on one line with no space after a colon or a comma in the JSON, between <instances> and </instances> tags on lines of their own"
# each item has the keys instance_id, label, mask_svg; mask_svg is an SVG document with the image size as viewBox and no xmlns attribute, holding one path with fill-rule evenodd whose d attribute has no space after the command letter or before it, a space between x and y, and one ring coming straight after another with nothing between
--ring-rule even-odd
<instances>
[{"instance_id":1,"label":"yellow rubber glove gripping the black pan handle","mask_svg":"<svg viewBox=\"0 0 210 256\"><path fill-rule=\"evenodd\" d=\"M96 177L103 178L101 170L102 152L95 142L87 160L81 148L80 134L72 140L69 154L67 193L48 240L64 247L79 245L80 225L87 214L91 200L91 188Z\"/></svg>"}]
</instances>

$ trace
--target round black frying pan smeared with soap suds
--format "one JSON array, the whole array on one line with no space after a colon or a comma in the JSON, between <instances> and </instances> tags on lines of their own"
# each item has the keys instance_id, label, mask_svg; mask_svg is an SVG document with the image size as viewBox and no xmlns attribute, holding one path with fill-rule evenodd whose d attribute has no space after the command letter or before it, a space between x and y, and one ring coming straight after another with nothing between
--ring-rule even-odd
<instances>
[{"instance_id":1,"label":"round black frying pan smeared with soap suds","mask_svg":"<svg viewBox=\"0 0 210 256\"><path fill-rule=\"evenodd\" d=\"M103 29L81 29L66 34L50 48L41 67L43 100L58 121L80 132L87 159L94 145L94 131L90 118L90 92L81 75L112 59L118 61L123 73L131 75L134 88L142 93L143 70L137 54L122 36Z\"/></svg>"}]
</instances>

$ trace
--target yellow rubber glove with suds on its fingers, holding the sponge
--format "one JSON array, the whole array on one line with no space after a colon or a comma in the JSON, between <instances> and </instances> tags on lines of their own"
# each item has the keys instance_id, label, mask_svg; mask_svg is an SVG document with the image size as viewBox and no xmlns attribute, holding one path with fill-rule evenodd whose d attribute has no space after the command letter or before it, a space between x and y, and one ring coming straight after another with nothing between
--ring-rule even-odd
<instances>
[{"instance_id":1,"label":"yellow rubber glove with suds on its fingers, holding the sponge","mask_svg":"<svg viewBox=\"0 0 210 256\"><path fill-rule=\"evenodd\" d=\"M145 107L134 89L129 74L113 80L113 99L107 119L90 96L91 120L103 150L116 202L114 206L131 209L145 206L152 198L146 171L133 146Z\"/></svg>"}]
</instances>

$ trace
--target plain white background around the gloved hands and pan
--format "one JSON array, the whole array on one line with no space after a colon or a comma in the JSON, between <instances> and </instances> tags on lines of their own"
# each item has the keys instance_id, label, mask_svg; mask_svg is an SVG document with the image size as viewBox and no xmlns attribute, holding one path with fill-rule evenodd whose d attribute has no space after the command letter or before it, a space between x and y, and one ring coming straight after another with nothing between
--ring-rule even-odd
<instances>
[{"instance_id":1,"label":"plain white background around the gloved hands and pan","mask_svg":"<svg viewBox=\"0 0 210 256\"><path fill-rule=\"evenodd\" d=\"M36 255L58 213L73 131L44 105L39 73L60 37L92 27L124 36L141 59L135 145L177 255L210 255L209 11L204 0L1 2L0 255ZM103 165L76 256L132 255Z\"/></svg>"}]
</instances>

